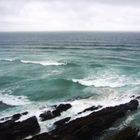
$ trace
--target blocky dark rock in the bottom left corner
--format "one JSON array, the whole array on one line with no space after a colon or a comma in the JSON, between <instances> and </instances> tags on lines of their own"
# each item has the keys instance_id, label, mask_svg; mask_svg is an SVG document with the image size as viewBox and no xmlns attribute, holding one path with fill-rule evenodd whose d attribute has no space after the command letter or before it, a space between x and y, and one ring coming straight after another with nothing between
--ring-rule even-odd
<instances>
[{"instance_id":1,"label":"blocky dark rock in the bottom left corner","mask_svg":"<svg viewBox=\"0 0 140 140\"><path fill-rule=\"evenodd\" d=\"M36 134L39 131L40 126L35 116L22 122L8 120L4 123L0 123L1 140L21 140L29 135Z\"/></svg>"}]
</instances>

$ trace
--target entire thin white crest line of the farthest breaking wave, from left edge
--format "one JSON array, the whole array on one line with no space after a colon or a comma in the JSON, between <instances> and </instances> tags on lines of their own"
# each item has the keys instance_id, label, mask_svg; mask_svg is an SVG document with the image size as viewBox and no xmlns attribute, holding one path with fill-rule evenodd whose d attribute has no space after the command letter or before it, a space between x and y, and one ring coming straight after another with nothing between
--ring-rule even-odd
<instances>
[{"instance_id":1,"label":"entire thin white crest line of the farthest breaking wave, from left edge","mask_svg":"<svg viewBox=\"0 0 140 140\"><path fill-rule=\"evenodd\" d=\"M43 66L60 66L60 65L66 65L66 63L62 63L62 62L57 62L57 61L52 61L52 60L48 60L48 61L31 61L31 60L20 60L20 59L2 59L3 61L20 61L21 63L24 64L39 64L39 65L43 65Z\"/></svg>"}]
</instances>

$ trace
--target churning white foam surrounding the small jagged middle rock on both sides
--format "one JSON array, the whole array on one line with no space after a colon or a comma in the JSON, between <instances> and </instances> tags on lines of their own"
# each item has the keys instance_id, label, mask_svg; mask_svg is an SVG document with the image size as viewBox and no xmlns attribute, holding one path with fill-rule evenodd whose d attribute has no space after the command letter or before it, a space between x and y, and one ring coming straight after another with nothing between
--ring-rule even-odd
<instances>
[{"instance_id":1,"label":"churning white foam surrounding the small jagged middle rock on both sides","mask_svg":"<svg viewBox=\"0 0 140 140\"><path fill-rule=\"evenodd\" d=\"M32 104L30 104L30 105L25 105L25 106L20 107L20 110L25 110L25 111L29 112L27 115L22 116L20 118L20 121L23 121L23 120L35 115L39 121L40 126L41 126L41 133L42 133L42 132L50 131L51 129L53 129L54 122L61 120L63 118L71 117L71 120L73 120L73 119L83 117L83 116L90 114L91 111L87 111L85 113L78 115L79 112L81 112L84 109L89 108L91 106L98 106L98 105L101 105L103 107L115 106L115 105L129 102L131 100L129 95L118 96L117 93L112 92L112 91L108 92L103 97L101 97L101 96L98 99L94 98L94 96L93 96L93 97L90 97L87 99L80 99L80 100L75 100L72 102L55 103L55 104L70 103L72 105L72 107L70 109L68 109L67 111L62 112L61 116L58 116L54 119L47 120L44 122L40 121L39 115L42 112L44 112L46 110L52 110L53 108L50 107L49 105L47 105L46 102L42 102L42 103L39 103L39 102L33 103L32 102ZM100 109L102 109L102 108L100 108Z\"/></svg>"}]
</instances>

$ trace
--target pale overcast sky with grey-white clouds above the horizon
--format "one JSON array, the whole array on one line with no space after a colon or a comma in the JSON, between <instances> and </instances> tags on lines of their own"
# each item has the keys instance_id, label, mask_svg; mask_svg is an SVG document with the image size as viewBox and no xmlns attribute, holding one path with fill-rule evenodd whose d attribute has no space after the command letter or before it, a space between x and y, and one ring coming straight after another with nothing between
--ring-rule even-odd
<instances>
[{"instance_id":1,"label":"pale overcast sky with grey-white clouds above the horizon","mask_svg":"<svg viewBox=\"0 0 140 140\"><path fill-rule=\"evenodd\" d=\"M0 31L140 31L140 0L0 0Z\"/></svg>"}]
</instances>

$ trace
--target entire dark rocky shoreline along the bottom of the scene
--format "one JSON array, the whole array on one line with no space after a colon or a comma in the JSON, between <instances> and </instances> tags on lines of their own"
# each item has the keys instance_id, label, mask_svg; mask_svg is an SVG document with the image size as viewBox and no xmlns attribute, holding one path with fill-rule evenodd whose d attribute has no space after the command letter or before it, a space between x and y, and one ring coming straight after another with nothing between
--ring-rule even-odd
<instances>
[{"instance_id":1,"label":"entire dark rocky shoreline along the bottom of the scene","mask_svg":"<svg viewBox=\"0 0 140 140\"><path fill-rule=\"evenodd\" d=\"M28 114L23 112L0 120L0 140L96 140L115 122L129 115L129 112L137 110L138 106L138 98L113 107L91 106L78 113L91 111L89 115L74 120L71 120L71 117L63 118L54 123L56 126L54 130L44 133L40 133L36 116L20 121L22 116ZM51 120L71 107L71 104L54 106L54 110L44 111L39 118L41 121ZM127 126L115 132L107 140L139 140L138 134L138 129ZM27 138L28 136L32 137Z\"/></svg>"}]
</instances>

